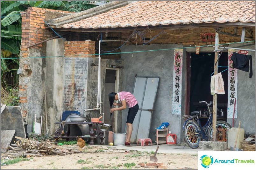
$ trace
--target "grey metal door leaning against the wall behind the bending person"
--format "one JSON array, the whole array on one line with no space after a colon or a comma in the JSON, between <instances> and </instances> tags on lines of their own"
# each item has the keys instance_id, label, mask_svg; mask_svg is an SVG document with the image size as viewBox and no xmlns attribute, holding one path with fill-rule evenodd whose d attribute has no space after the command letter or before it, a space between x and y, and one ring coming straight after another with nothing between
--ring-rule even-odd
<instances>
[{"instance_id":1,"label":"grey metal door leaning against the wall behind the bending person","mask_svg":"<svg viewBox=\"0 0 256 170\"><path fill-rule=\"evenodd\" d=\"M139 111L133 122L131 142L148 138L159 77L136 77L133 95L138 101Z\"/></svg>"}]
</instances>

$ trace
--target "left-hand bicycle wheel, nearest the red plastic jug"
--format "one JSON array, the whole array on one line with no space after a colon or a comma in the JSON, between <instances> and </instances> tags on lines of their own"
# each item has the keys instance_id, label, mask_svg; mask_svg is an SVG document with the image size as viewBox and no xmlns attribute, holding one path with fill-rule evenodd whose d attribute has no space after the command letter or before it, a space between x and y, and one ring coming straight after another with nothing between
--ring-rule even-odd
<instances>
[{"instance_id":1,"label":"left-hand bicycle wheel, nearest the red plastic jug","mask_svg":"<svg viewBox=\"0 0 256 170\"><path fill-rule=\"evenodd\" d=\"M199 142L201 141L201 136L198 134L199 127L197 123L193 120L189 120L185 125L185 141L188 146L192 149L196 149L199 146Z\"/></svg>"}]
</instances>

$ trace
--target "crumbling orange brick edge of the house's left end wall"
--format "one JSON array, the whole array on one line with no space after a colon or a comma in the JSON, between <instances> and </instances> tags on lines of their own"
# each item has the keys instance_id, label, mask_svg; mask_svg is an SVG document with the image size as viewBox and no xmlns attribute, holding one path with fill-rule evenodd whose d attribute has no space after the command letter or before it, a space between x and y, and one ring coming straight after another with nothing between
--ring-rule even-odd
<instances>
[{"instance_id":1,"label":"crumbling orange brick edge of the house's left end wall","mask_svg":"<svg viewBox=\"0 0 256 170\"><path fill-rule=\"evenodd\" d=\"M44 41L47 38L52 37L52 31L45 27L44 20L46 19L45 12L54 11L61 13L70 13L66 11L53 10L53 9L41 9L36 7L29 7L26 12L21 12L22 25L21 25L21 49L20 49L20 64L19 64L19 106L21 106L22 116L24 121L26 121L28 109L27 109L27 87L29 83L29 78L33 71L30 68L30 60L27 57L30 56L30 51L46 51L46 43L41 43L33 47L30 45L36 44L38 42ZM73 12L72 12L73 13ZM46 54L42 52L41 54ZM45 56L45 55L42 55Z\"/></svg>"}]
</instances>

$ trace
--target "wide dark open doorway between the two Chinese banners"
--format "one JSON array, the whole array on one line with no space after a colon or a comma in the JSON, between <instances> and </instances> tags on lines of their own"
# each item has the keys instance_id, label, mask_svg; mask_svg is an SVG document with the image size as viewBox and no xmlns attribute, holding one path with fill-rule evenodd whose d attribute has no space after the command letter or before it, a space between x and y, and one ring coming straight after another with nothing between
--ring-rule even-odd
<instances>
[{"instance_id":1,"label":"wide dark open doorway between the two Chinese banners","mask_svg":"<svg viewBox=\"0 0 256 170\"><path fill-rule=\"evenodd\" d=\"M189 113L196 110L201 110L202 113L207 112L207 105L199 103L199 101L206 101L210 103L213 101L213 95L210 94L211 75L214 72L214 53L190 53L190 67L188 68L188 75L190 78L187 85L189 88ZM218 60L218 72L222 72L224 81L225 94L217 97L217 119L226 120L227 118L227 103L228 103L228 53L222 53ZM190 69L189 69L190 68ZM226 71L225 71L226 70ZM220 110L225 112L224 116L220 115ZM219 113L218 113L219 111ZM209 116L209 115L208 115ZM207 116L207 118L208 118ZM207 119L205 119L207 120Z\"/></svg>"}]
</instances>

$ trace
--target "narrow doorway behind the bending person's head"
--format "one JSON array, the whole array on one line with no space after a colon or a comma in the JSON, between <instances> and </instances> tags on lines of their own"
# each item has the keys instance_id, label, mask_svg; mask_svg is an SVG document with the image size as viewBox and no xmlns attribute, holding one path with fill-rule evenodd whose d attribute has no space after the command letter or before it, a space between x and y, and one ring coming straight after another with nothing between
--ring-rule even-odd
<instances>
[{"instance_id":1,"label":"narrow doorway behind the bending person's head","mask_svg":"<svg viewBox=\"0 0 256 170\"><path fill-rule=\"evenodd\" d=\"M118 132L117 111L110 117L109 93L118 92L119 86L119 69L108 68L105 74L105 100L104 100L104 123L110 124L110 131ZM113 106L112 106L113 107ZM121 127L120 127L121 128Z\"/></svg>"}]
</instances>

